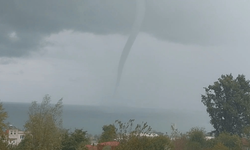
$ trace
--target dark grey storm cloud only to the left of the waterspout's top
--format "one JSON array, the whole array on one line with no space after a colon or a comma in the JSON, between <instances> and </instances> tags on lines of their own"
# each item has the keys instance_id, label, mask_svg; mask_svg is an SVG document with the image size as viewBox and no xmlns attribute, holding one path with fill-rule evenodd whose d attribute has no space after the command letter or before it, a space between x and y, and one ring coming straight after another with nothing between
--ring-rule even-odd
<instances>
[{"instance_id":1,"label":"dark grey storm cloud only to the left of the waterspout's top","mask_svg":"<svg viewBox=\"0 0 250 150\"><path fill-rule=\"evenodd\" d=\"M132 0L0 1L1 56L20 56L35 50L44 36L63 29L96 34L127 32L134 17L133 3ZM18 37L15 41L9 37L12 32Z\"/></svg>"}]
</instances>

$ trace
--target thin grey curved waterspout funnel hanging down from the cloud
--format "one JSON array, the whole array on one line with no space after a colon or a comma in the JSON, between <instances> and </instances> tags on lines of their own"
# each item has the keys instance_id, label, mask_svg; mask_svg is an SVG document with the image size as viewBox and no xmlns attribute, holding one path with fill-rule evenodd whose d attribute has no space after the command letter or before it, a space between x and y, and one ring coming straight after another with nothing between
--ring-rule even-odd
<instances>
[{"instance_id":1,"label":"thin grey curved waterspout funnel hanging down from the cloud","mask_svg":"<svg viewBox=\"0 0 250 150\"><path fill-rule=\"evenodd\" d=\"M114 94L116 94L118 87L120 85L124 65L128 58L131 47L134 44L135 39L140 31L140 28L141 28L141 25L145 16L145 11L146 11L145 0L136 0L135 22L132 28L132 32L123 48L123 51L120 57Z\"/></svg>"}]
</instances>

